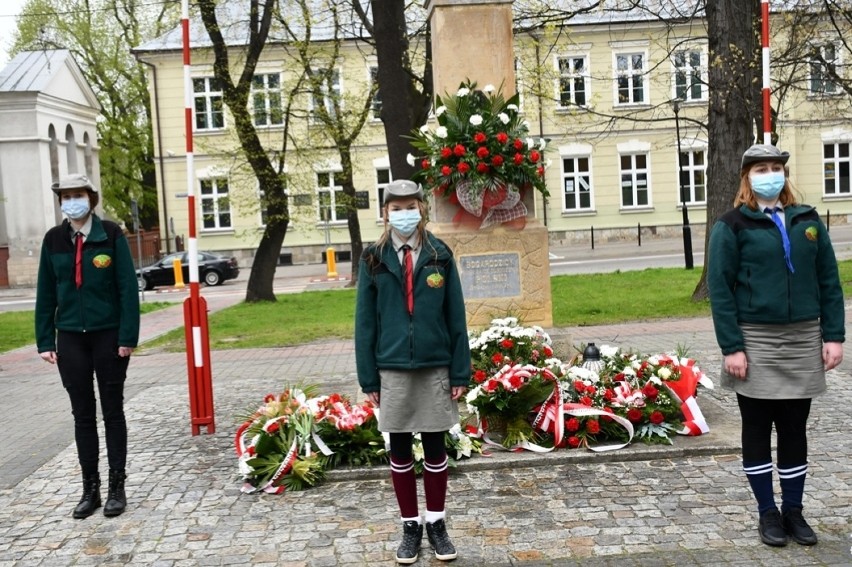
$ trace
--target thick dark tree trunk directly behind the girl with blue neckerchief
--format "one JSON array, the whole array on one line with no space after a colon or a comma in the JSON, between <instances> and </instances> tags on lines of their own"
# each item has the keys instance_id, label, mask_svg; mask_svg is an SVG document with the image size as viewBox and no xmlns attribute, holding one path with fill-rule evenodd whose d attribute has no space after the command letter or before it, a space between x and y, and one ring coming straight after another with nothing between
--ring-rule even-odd
<instances>
[{"instance_id":1,"label":"thick dark tree trunk directly behind the girl with blue neckerchief","mask_svg":"<svg viewBox=\"0 0 852 567\"><path fill-rule=\"evenodd\" d=\"M760 0L712 0L706 3L710 50L707 139L707 231L704 250L709 252L710 231L733 205L740 185L740 161L754 142L754 124L760 108ZM707 258L692 294L706 299Z\"/></svg>"}]
</instances>

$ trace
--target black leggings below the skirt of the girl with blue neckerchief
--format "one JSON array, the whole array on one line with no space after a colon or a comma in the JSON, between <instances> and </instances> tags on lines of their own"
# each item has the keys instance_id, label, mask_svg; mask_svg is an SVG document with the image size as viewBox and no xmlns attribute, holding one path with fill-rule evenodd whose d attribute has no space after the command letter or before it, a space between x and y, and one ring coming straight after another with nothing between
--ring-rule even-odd
<instances>
[{"instance_id":1,"label":"black leggings below the skirt of the girl with blue neckerchief","mask_svg":"<svg viewBox=\"0 0 852 567\"><path fill-rule=\"evenodd\" d=\"M810 398L761 400L737 394L743 431L743 462L772 462L772 425L778 436L778 461L798 465L808 460L807 421Z\"/></svg>"}]
</instances>

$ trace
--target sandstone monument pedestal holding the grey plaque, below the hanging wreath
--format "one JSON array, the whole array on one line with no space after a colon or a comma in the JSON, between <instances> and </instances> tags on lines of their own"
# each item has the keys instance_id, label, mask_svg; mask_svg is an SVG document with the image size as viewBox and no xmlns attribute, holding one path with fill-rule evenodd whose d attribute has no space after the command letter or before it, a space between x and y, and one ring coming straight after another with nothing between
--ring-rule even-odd
<instances>
[{"instance_id":1,"label":"sandstone monument pedestal holding the grey plaque, below the hanging wreath","mask_svg":"<svg viewBox=\"0 0 852 567\"><path fill-rule=\"evenodd\" d=\"M444 203L444 207L451 205ZM436 203L440 209L441 205ZM429 225L453 250L461 275L468 327L517 317L524 326L553 326L547 228L528 216L522 230L494 225L472 229L441 222Z\"/></svg>"}]
</instances>

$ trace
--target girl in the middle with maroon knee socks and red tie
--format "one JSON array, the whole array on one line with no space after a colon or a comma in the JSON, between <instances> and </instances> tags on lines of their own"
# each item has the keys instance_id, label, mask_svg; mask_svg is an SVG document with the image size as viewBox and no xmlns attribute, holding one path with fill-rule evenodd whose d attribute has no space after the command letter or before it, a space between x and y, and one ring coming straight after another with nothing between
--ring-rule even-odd
<instances>
[{"instance_id":1,"label":"girl in the middle with maroon knee socks and red tie","mask_svg":"<svg viewBox=\"0 0 852 567\"><path fill-rule=\"evenodd\" d=\"M453 254L426 230L423 191L411 181L384 193L385 233L360 261L355 312L358 381L380 408L390 436L391 480L403 526L397 562L414 563L423 519L435 557L455 559L447 534L444 435L459 421L457 400L470 381L464 298ZM412 434L423 442L426 514L421 518Z\"/></svg>"}]
</instances>

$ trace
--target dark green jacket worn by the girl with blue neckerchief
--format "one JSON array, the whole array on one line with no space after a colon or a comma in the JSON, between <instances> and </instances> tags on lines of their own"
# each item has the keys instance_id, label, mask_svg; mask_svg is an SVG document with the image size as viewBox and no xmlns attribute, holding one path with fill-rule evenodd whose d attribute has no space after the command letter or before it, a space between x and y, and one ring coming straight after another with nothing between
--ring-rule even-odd
<instances>
[{"instance_id":1,"label":"dark green jacket worn by the girl with blue neckerchief","mask_svg":"<svg viewBox=\"0 0 852 567\"><path fill-rule=\"evenodd\" d=\"M845 339L843 290L828 231L808 205L784 209L790 256L781 232L762 211L743 205L713 226L707 285L723 354L745 350L740 323L783 325L820 320L823 341Z\"/></svg>"}]
</instances>

